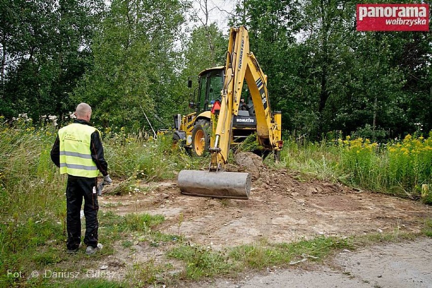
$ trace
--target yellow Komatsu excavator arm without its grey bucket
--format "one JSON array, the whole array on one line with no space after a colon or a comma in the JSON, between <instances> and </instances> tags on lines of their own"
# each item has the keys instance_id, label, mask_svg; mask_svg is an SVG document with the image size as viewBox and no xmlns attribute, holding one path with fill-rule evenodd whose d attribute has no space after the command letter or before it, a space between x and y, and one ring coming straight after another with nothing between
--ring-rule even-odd
<instances>
[{"instance_id":1,"label":"yellow Komatsu excavator arm without its grey bucket","mask_svg":"<svg viewBox=\"0 0 432 288\"><path fill-rule=\"evenodd\" d=\"M254 103L257 118L257 137L266 149L280 151L281 117L271 112L267 90L267 75L258 64L254 53L249 50L249 35L244 26L230 29L225 81L221 91L221 109L215 129L214 146L211 153L210 170L218 171L225 167L231 144L233 118L238 115L243 81Z\"/></svg>"}]
</instances>

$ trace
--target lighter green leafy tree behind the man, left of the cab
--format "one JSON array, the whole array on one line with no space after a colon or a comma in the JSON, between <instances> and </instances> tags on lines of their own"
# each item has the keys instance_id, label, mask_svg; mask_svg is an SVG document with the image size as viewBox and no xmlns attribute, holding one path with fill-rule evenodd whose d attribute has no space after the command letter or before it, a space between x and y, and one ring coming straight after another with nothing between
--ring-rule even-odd
<instances>
[{"instance_id":1,"label":"lighter green leafy tree behind the man, left of the cab","mask_svg":"<svg viewBox=\"0 0 432 288\"><path fill-rule=\"evenodd\" d=\"M94 68L73 96L94 107L98 124L140 128L145 112L164 126L159 113L172 102L174 43L187 8L177 0L113 1L92 45Z\"/></svg>"}]
</instances>

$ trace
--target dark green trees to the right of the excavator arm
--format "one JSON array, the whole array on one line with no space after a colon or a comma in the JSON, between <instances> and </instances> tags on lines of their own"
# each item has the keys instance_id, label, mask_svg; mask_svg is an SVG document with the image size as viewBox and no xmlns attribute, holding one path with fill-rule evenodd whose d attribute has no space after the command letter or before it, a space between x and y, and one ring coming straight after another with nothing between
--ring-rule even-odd
<instances>
[{"instance_id":1,"label":"dark green trees to the right of the excavator arm","mask_svg":"<svg viewBox=\"0 0 432 288\"><path fill-rule=\"evenodd\" d=\"M390 137L414 132L415 123L429 131L431 34L357 32L356 4L246 0L237 6L232 22L249 27L283 129L311 139L367 125Z\"/></svg>"}]
</instances>

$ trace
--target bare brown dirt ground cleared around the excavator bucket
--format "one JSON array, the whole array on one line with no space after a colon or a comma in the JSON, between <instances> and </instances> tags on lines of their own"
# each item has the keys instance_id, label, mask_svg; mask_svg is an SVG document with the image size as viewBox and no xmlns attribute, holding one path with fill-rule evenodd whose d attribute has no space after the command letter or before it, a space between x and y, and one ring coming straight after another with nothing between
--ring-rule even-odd
<instances>
[{"instance_id":1,"label":"bare brown dirt ground cleared around the excavator bucket","mask_svg":"<svg viewBox=\"0 0 432 288\"><path fill-rule=\"evenodd\" d=\"M237 159L238 165L230 169L253 174L249 200L185 196L175 181L168 181L141 184L141 192L124 196L107 193L99 199L100 212L163 214L166 221L158 230L183 235L192 243L213 249L254 243L262 238L292 242L317 235L416 233L424 227L424 219L432 217L431 207L417 201L307 179L287 170L272 170L254 157L242 159L247 160ZM135 243L132 256L120 244L116 248L119 250L111 256L112 263L126 264L163 254L145 243Z\"/></svg>"}]
</instances>

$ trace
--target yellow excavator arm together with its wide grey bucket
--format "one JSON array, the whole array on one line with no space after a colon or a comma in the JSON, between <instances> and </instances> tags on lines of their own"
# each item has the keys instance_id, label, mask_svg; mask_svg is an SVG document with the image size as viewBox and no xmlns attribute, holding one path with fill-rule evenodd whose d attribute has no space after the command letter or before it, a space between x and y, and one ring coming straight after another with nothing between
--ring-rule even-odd
<instances>
[{"instance_id":1,"label":"yellow excavator arm together with its wide grey bucket","mask_svg":"<svg viewBox=\"0 0 432 288\"><path fill-rule=\"evenodd\" d=\"M257 117L257 137L265 149L280 151L281 117L271 113L264 75L254 53L249 50L249 36L244 26L230 29L225 79L220 97L220 110L213 111L214 140L209 152L211 162L208 171L183 170L178 174L178 187L183 194L215 198L248 199L250 174L226 172L233 119L238 115L243 81L252 97Z\"/></svg>"}]
</instances>

